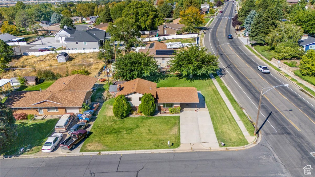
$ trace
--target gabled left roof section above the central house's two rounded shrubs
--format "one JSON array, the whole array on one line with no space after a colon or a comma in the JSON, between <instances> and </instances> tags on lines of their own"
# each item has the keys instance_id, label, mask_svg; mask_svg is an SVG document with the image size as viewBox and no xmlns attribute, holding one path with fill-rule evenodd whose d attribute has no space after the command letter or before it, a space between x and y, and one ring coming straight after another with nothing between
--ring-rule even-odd
<instances>
[{"instance_id":1,"label":"gabled left roof section above the central house's two rounded shrubs","mask_svg":"<svg viewBox=\"0 0 315 177\"><path fill-rule=\"evenodd\" d=\"M117 92L116 97L121 94L127 95L127 94L136 92L139 94L151 93L153 97L155 98L156 88L157 88L156 83L150 82L144 79L136 78L134 80L122 83L121 90L120 92Z\"/></svg>"}]
</instances>

